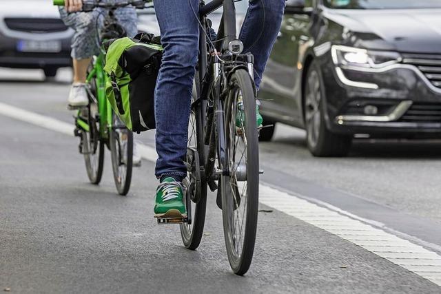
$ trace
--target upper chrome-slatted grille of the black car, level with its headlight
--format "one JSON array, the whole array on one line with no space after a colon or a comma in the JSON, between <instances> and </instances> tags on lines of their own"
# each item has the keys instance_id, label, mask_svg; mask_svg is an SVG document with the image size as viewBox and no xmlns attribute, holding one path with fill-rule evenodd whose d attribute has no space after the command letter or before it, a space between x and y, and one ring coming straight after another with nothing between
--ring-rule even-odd
<instances>
[{"instance_id":1,"label":"upper chrome-slatted grille of the black car, level with its headlight","mask_svg":"<svg viewBox=\"0 0 441 294\"><path fill-rule=\"evenodd\" d=\"M415 65L431 81L432 85L441 89L441 55L440 54L402 54L403 63Z\"/></svg>"}]
</instances>

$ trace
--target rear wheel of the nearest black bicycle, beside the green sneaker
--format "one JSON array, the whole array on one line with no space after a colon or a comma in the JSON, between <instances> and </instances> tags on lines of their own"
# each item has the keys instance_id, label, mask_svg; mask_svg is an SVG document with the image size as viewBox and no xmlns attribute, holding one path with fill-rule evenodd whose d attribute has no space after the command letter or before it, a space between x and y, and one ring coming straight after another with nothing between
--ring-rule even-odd
<instances>
[{"instance_id":1,"label":"rear wheel of the nearest black bicycle, beside the green sneaker","mask_svg":"<svg viewBox=\"0 0 441 294\"><path fill-rule=\"evenodd\" d=\"M198 97L198 74L193 86L192 101ZM191 210L191 223L181 224L181 238L187 249L195 250L201 244L207 206L207 184L201 177L200 167L204 165L205 145L203 143L203 103L192 106L188 125L187 177L185 185L185 204ZM189 215L190 216L190 215Z\"/></svg>"}]
</instances>

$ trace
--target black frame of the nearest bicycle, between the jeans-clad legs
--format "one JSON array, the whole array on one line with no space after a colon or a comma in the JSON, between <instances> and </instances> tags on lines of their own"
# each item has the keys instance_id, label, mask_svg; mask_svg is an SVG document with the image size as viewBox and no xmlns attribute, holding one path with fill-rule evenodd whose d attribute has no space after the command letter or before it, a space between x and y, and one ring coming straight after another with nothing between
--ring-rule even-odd
<instances>
[{"instance_id":1,"label":"black frame of the nearest bicycle, between the jeans-clad legs","mask_svg":"<svg viewBox=\"0 0 441 294\"><path fill-rule=\"evenodd\" d=\"M203 174L205 180L207 181L210 189L214 191L216 189L213 182L213 173L214 173L214 158L216 157L216 151L218 152L218 162L220 166L223 168L223 173L228 172L227 167L225 167L224 163L227 162L227 152L225 151L225 124L224 124L224 112L222 101L220 101L220 93L218 88L214 83L216 82L216 78L219 72L220 63L216 58L216 54L212 54L210 59L207 60L207 14L214 12L223 6L223 15L220 21L220 27L218 29L218 36L216 40L216 51L217 54L223 54L227 52L228 45L231 41L236 40L236 8L234 6L234 0L213 0L208 4L205 4L203 1L200 2L199 5L199 20L201 21L202 28L199 33L199 60L198 60L198 70L199 70L199 91L198 91L198 99L196 103L201 103L201 117L199 121L205 121L207 114L207 103L209 94L214 91L214 100L210 101L213 105L210 105L210 109L216 109L216 112L213 112L208 115L207 119L207 134L205 134L205 138L203 139L204 145L208 145L207 154L201 154L201 157L207 158L205 162ZM213 68L213 70L211 70ZM210 69L210 70L209 70ZM214 117L216 116L216 117ZM214 124L216 121L216 124ZM218 144L216 145L216 140ZM217 150L216 150L217 146ZM205 160L204 160L205 161Z\"/></svg>"}]
</instances>

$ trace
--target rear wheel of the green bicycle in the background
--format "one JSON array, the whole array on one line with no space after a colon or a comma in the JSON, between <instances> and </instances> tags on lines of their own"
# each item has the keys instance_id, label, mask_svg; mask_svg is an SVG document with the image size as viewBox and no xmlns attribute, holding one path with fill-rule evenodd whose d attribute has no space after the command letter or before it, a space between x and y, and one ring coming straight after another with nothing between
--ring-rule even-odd
<instances>
[{"instance_id":1,"label":"rear wheel of the green bicycle in the background","mask_svg":"<svg viewBox=\"0 0 441 294\"><path fill-rule=\"evenodd\" d=\"M88 68L88 74L93 68L91 62ZM100 138L99 121L95 120L95 111L98 109L98 105L90 98L90 93L96 96L96 82L94 79L90 81L90 92L88 92L89 105L86 108L86 116L88 119L89 132L83 131L83 155L85 168L88 173L88 178L93 185L99 185L103 176L104 168L104 143ZM98 152L98 154L96 154Z\"/></svg>"}]
</instances>

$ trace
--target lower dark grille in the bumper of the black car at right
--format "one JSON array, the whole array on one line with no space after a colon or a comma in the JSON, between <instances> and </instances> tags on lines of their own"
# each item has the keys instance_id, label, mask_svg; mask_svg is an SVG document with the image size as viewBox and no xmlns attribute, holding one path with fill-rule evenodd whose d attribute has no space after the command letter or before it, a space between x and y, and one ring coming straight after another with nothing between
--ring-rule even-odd
<instances>
[{"instance_id":1,"label":"lower dark grille in the bumper of the black car at right","mask_svg":"<svg viewBox=\"0 0 441 294\"><path fill-rule=\"evenodd\" d=\"M413 103L399 121L412 123L441 122L441 104Z\"/></svg>"}]
</instances>

